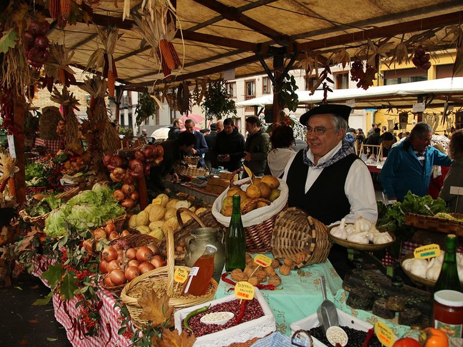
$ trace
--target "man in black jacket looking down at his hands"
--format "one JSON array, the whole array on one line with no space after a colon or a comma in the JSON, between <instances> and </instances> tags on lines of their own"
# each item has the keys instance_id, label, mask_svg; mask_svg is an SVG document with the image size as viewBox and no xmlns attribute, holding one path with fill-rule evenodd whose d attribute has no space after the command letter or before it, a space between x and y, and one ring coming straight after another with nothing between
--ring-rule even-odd
<instances>
[{"instance_id":1,"label":"man in black jacket looking down at his hands","mask_svg":"<svg viewBox=\"0 0 463 347\"><path fill-rule=\"evenodd\" d=\"M241 167L244 157L244 136L238 132L233 119L223 121L223 131L217 134L213 148L212 167L223 166L228 171L235 171Z\"/></svg>"}]
</instances>

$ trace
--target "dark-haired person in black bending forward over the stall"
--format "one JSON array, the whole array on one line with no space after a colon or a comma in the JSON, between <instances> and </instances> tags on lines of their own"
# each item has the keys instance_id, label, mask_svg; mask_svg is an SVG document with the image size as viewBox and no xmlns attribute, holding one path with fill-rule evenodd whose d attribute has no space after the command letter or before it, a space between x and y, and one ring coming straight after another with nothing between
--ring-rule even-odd
<instances>
[{"instance_id":1,"label":"dark-haired person in black bending forward over the stall","mask_svg":"<svg viewBox=\"0 0 463 347\"><path fill-rule=\"evenodd\" d=\"M159 165L151 167L150 175L146 177L146 187L150 196L166 190L165 178L168 174L172 175L174 182L179 180L175 172L175 163L179 162L195 144L196 137L189 132L180 133L179 138L161 143L164 149L163 160Z\"/></svg>"}]
</instances>

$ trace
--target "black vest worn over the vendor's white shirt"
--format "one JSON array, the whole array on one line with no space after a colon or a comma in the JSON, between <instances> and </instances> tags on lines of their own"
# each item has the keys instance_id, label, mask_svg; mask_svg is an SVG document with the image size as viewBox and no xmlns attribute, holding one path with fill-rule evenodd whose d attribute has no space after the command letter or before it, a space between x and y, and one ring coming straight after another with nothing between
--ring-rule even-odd
<instances>
[{"instance_id":1,"label":"black vest worn over the vendor's white shirt","mask_svg":"<svg viewBox=\"0 0 463 347\"><path fill-rule=\"evenodd\" d=\"M303 155L304 150L297 152L288 171L288 206L305 210L326 225L340 221L350 213L344 185L352 163L359 157L352 153L324 168L312 187L304 193L309 167L304 163Z\"/></svg>"}]
</instances>

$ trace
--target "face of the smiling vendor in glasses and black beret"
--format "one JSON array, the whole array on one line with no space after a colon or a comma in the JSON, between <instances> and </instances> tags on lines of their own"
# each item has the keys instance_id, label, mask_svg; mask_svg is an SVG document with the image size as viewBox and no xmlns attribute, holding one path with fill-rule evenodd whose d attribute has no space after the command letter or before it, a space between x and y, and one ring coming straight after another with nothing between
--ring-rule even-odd
<instances>
[{"instance_id":1,"label":"face of the smiling vendor in glasses and black beret","mask_svg":"<svg viewBox=\"0 0 463 347\"><path fill-rule=\"evenodd\" d=\"M317 135L316 130L325 132ZM336 147L343 137L343 130L334 130L334 119L330 114L313 115L307 121L307 144L317 161Z\"/></svg>"}]
</instances>

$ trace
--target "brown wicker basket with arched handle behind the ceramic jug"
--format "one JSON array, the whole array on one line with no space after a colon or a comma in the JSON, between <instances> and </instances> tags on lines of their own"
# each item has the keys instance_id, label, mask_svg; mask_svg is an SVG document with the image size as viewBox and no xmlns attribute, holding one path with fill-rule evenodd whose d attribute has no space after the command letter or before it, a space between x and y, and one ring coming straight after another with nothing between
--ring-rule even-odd
<instances>
[{"instance_id":1,"label":"brown wicker basket with arched handle behind the ceramic jug","mask_svg":"<svg viewBox=\"0 0 463 347\"><path fill-rule=\"evenodd\" d=\"M181 216L182 212L188 213L191 216L191 219L188 220L186 223L183 223L182 221L182 216ZM197 215L193 211L187 208L181 207L177 209L176 216L177 216L177 221L179 221L179 228L174 230L175 246L178 246L179 243L184 241L186 237L190 235L190 232L194 229L209 227L209 228L219 228L219 229L224 230L222 224L217 222L216 218L212 215L212 212L210 211L210 209ZM185 253L175 255L176 264L183 265L184 261L185 261Z\"/></svg>"}]
</instances>

